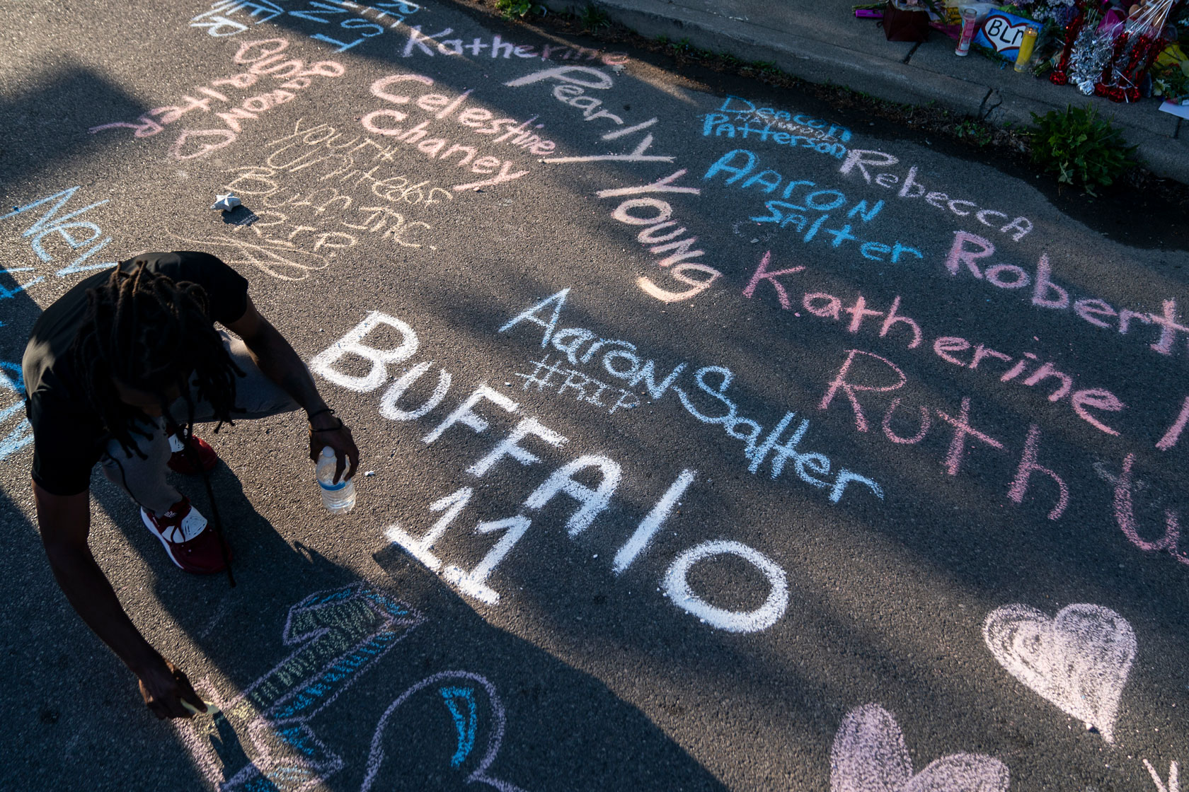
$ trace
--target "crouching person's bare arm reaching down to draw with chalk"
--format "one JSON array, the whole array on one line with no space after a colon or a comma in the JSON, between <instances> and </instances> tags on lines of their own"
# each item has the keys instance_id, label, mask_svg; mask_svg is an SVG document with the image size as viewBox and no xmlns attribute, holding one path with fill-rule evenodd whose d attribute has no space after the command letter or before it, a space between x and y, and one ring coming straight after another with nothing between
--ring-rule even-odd
<instances>
[{"instance_id":1,"label":"crouching person's bare arm reaching down to draw with chalk","mask_svg":"<svg viewBox=\"0 0 1189 792\"><path fill-rule=\"evenodd\" d=\"M112 589L87 545L90 533L90 493L55 495L33 483L37 524L50 569L70 606L124 665L140 680L145 704L159 718L190 717L182 699L199 711L202 699L185 674L144 639Z\"/></svg>"}]
</instances>

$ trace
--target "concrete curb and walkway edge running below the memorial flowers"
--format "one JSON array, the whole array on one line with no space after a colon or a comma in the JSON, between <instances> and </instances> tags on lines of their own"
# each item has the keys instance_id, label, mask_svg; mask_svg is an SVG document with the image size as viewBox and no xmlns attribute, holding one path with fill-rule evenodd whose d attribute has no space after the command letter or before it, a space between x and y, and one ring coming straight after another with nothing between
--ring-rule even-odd
<instances>
[{"instance_id":1,"label":"concrete curb and walkway edge running below the memorial flowers","mask_svg":"<svg viewBox=\"0 0 1189 792\"><path fill-rule=\"evenodd\" d=\"M580 9L573 0L543 0L551 11ZM688 39L696 47L729 52L743 61L768 61L816 83L845 85L879 99L944 107L1000 126L1032 122L1067 104L1093 104L1111 118L1153 173L1189 183L1189 122L1152 107L1114 106L1072 88L1004 72L984 58L965 58L963 76L946 74L952 53L937 47L906 49L905 62L824 42L801 32L776 31L724 14L663 0L600 0L598 8L641 36ZM935 33L936 34L936 33ZM879 42L882 44L882 42ZM874 47L873 47L874 49Z\"/></svg>"}]
</instances>

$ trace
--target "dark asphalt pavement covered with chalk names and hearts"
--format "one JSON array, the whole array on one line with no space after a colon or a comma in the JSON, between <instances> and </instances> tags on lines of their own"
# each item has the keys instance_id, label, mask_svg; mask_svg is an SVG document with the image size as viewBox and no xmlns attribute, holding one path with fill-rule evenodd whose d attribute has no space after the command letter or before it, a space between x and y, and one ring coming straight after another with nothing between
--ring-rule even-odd
<instances>
[{"instance_id":1,"label":"dark asphalt pavement covered with chalk names and hearts","mask_svg":"<svg viewBox=\"0 0 1189 792\"><path fill-rule=\"evenodd\" d=\"M883 121L448 1L0 20L6 788L1177 788L1158 207L1126 246ZM57 589L20 410L39 310L143 249L244 274L363 451L332 517L301 417L208 430L234 589L95 474L100 565L220 708L178 723Z\"/></svg>"}]
</instances>

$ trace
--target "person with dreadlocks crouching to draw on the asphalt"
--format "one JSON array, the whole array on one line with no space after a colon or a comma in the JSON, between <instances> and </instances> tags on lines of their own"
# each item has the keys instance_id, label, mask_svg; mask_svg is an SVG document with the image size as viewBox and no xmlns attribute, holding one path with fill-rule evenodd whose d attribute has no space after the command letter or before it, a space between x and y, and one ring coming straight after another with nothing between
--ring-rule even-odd
<instances>
[{"instance_id":1,"label":"person with dreadlocks crouching to draw on the asphalt","mask_svg":"<svg viewBox=\"0 0 1189 792\"><path fill-rule=\"evenodd\" d=\"M37 522L54 577L138 677L149 709L159 718L188 717L182 699L199 710L202 701L133 626L87 544L92 468L99 463L140 506L177 566L200 575L226 569L231 578L209 480L214 526L165 477L166 468L206 477L218 463L194 424L218 422L218 432L233 418L303 408L310 458L334 449L336 482L359 463L351 430L252 305L247 281L207 253L144 253L87 278L38 318L21 366Z\"/></svg>"}]
</instances>

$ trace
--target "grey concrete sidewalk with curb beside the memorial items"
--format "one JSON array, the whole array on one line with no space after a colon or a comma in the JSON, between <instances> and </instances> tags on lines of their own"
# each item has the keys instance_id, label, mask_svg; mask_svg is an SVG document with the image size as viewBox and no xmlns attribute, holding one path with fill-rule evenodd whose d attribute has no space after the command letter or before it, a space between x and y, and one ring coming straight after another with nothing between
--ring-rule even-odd
<instances>
[{"instance_id":1,"label":"grey concrete sidewalk with curb beside the memorial items","mask_svg":"<svg viewBox=\"0 0 1189 792\"><path fill-rule=\"evenodd\" d=\"M1115 104L1070 85L1000 69L989 59L954 55L937 31L924 44L888 42L873 20L855 19L854 0L599 0L614 21L649 38L687 38L693 46L744 61L770 61L812 82L831 82L880 99L936 101L998 125L1028 125L1030 113L1095 104L1121 129L1152 172L1189 183L1189 121L1159 102ZM546 0L566 11L574 0Z\"/></svg>"}]
</instances>

